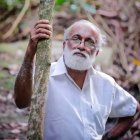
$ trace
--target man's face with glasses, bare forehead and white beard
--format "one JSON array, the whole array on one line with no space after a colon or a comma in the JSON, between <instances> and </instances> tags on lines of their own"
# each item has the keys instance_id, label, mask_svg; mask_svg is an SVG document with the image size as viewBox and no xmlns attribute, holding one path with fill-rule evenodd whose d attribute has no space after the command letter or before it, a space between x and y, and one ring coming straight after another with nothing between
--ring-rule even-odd
<instances>
[{"instance_id":1,"label":"man's face with glasses, bare forehead and white beard","mask_svg":"<svg viewBox=\"0 0 140 140\"><path fill-rule=\"evenodd\" d=\"M64 42L64 61L74 70L88 70L97 55L97 33L87 24L78 23Z\"/></svg>"}]
</instances>

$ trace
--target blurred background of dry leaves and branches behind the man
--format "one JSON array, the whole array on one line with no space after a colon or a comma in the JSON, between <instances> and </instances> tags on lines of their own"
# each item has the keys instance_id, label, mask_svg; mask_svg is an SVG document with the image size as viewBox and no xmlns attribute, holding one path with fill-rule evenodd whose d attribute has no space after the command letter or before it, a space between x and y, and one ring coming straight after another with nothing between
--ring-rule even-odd
<instances>
[{"instance_id":1,"label":"blurred background of dry leaves and branches behind the man","mask_svg":"<svg viewBox=\"0 0 140 140\"><path fill-rule=\"evenodd\" d=\"M25 138L27 111L16 108L12 94L38 9L39 0L0 0L0 139ZM94 67L111 75L140 101L139 15L140 0L56 0L53 61L62 54L64 29L79 19L90 20L107 37ZM126 138L133 140L136 130L132 128Z\"/></svg>"}]
</instances>

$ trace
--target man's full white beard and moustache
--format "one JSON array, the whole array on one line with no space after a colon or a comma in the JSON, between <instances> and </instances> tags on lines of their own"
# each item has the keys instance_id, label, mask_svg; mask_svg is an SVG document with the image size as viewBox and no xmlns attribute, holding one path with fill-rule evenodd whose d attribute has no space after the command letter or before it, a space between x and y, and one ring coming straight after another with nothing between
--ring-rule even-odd
<instances>
[{"instance_id":1,"label":"man's full white beard and moustache","mask_svg":"<svg viewBox=\"0 0 140 140\"><path fill-rule=\"evenodd\" d=\"M76 55L75 53L81 53L85 57ZM95 61L95 53L89 56L86 52L79 49L70 50L68 46L64 47L63 55L66 66L79 71L88 70Z\"/></svg>"}]
</instances>

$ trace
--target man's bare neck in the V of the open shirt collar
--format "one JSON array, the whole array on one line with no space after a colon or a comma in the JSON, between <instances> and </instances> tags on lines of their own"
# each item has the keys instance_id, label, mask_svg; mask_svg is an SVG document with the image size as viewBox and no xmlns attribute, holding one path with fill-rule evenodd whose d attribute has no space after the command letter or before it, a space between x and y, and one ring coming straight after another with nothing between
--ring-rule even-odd
<instances>
[{"instance_id":1,"label":"man's bare neck in the V of the open shirt collar","mask_svg":"<svg viewBox=\"0 0 140 140\"><path fill-rule=\"evenodd\" d=\"M68 74L71 76L71 78L74 80L74 82L82 89L87 70L85 71L79 71L79 70L74 70L71 68L67 68Z\"/></svg>"}]
</instances>

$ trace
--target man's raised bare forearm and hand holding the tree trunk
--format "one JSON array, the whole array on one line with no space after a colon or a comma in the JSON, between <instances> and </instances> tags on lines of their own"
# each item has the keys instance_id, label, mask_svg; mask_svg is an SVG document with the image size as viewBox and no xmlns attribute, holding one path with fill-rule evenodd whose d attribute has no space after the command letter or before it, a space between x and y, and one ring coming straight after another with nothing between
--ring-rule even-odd
<instances>
[{"instance_id":1,"label":"man's raised bare forearm and hand holding the tree trunk","mask_svg":"<svg viewBox=\"0 0 140 140\"><path fill-rule=\"evenodd\" d=\"M40 39L50 38L51 30L51 25L47 20L39 20L31 30L30 41L15 81L14 99L18 108L28 107L31 103L33 61L37 43Z\"/></svg>"}]
</instances>

